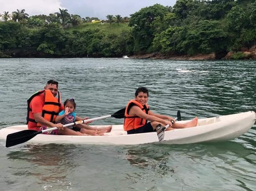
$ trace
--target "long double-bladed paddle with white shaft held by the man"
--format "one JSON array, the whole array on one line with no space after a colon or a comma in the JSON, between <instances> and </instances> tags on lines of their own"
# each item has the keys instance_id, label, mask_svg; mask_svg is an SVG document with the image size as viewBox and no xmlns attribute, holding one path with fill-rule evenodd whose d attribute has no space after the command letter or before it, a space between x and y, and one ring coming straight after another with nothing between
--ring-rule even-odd
<instances>
[{"instance_id":1,"label":"long double-bladed paddle with white shaft held by the man","mask_svg":"<svg viewBox=\"0 0 256 191\"><path fill-rule=\"evenodd\" d=\"M105 119L105 118L109 118L109 117L114 117L114 118L117 118L117 119L121 119L121 118L124 118L124 113L125 113L125 108L122 108L122 109L120 109L119 111L115 112L112 115L107 115L107 116L102 116L102 117L95 117L95 118L86 119L86 120L80 120L80 121L76 121L74 123L69 123L69 124L63 125L63 127L68 127L68 126L71 126L71 125L77 125L77 124L80 124L80 123L95 121L95 120L99 120L99 119ZM35 131L35 130L29 130L28 129L28 130L19 131L19 132L16 132L16 133L11 133L11 134L7 135L7 137L6 137L6 145L5 146L6 147L11 147L11 146L14 146L14 145L21 144L23 142L26 142L26 141L32 139L33 137L35 137L38 134L45 133L47 131L52 131L52 130L55 130L55 129L58 129L58 128L53 127L53 128L49 128L49 129L45 129L45 130L41 130L41 131Z\"/></svg>"}]
</instances>

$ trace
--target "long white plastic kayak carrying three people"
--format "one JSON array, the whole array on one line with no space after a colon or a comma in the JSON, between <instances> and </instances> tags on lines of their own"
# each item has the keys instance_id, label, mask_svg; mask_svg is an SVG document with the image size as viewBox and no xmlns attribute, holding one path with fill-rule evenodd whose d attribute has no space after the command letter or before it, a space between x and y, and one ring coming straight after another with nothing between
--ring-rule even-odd
<instances>
[{"instance_id":1,"label":"long white plastic kayak carrying three people","mask_svg":"<svg viewBox=\"0 0 256 191\"><path fill-rule=\"evenodd\" d=\"M255 123L254 111L198 119L196 127L164 131L163 144L190 144L198 142L228 141L246 133ZM186 123L189 120L176 121ZM97 125L104 127L106 125ZM8 134L26 130L27 125L16 125L0 130L0 139ZM105 136L71 136L38 134L28 142L41 144L98 144L98 145L137 145L159 142L156 132L127 135L123 125L113 125Z\"/></svg>"}]
</instances>

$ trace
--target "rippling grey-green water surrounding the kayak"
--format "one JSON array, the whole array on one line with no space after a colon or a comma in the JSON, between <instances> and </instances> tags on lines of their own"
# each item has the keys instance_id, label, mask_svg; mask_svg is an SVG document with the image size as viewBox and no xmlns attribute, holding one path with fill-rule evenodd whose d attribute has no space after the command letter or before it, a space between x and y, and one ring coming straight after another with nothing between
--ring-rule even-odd
<instances>
[{"instance_id":1,"label":"rippling grey-green water surrounding the kayak","mask_svg":"<svg viewBox=\"0 0 256 191\"><path fill-rule=\"evenodd\" d=\"M150 90L152 111L183 119L256 111L255 61L1 59L0 129L25 124L26 100L56 79L81 117L113 114ZM108 118L93 124L121 124ZM32 145L0 140L1 190L256 190L256 125L214 144Z\"/></svg>"}]
</instances>

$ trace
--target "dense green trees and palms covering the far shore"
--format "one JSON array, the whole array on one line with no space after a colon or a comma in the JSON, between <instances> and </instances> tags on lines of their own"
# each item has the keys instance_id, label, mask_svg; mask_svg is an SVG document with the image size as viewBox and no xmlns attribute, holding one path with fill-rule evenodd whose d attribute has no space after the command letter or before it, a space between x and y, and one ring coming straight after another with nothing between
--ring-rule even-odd
<instances>
[{"instance_id":1,"label":"dense green trees and palms covering the far shore","mask_svg":"<svg viewBox=\"0 0 256 191\"><path fill-rule=\"evenodd\" d=\"M121 57L161 52L196 55L239 51L256 44L255 0L177 0L129 17L81 18L68 10L0 15L0 57ZM126 24L128 23L128 24Z\"/></svg>"}]
</instances>

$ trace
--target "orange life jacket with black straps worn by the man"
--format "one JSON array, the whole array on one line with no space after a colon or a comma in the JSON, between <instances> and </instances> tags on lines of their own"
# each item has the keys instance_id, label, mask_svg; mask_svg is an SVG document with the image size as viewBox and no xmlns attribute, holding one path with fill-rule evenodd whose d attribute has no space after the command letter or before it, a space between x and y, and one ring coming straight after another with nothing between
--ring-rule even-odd
<instances>
[{"instance_id":1,"label":"orange life jacket with black straps worn by the man","mask_svg":"<svg viewBox=\"0 0 256 191\"><path fill-rule=\"evenodd\" d=\"M58 116L59 109L61 107L61 94L58 91L58 100L52 95L52 92L50 90L41 90L33 94L28 100L27 100L27 124L28 122L35 123L35 126L41 127L42 125L40 123L37 123L35 118L29 118L30 113L32 113L32 109L30 108L30 102L31 100L42 93L45 92L45 105L43 106L42 110L42 117L45 118L47 121L54 123L56 116ZM33 115L31 115L33 116Z\"/></svg>"}]
</instances>

